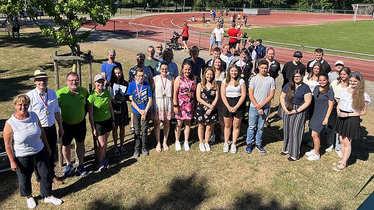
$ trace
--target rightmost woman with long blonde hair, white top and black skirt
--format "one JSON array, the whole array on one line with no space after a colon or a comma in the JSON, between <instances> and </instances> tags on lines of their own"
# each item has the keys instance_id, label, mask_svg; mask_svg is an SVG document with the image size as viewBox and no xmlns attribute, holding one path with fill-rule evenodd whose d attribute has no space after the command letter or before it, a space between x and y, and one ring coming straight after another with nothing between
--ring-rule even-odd
<instances>
[{"instance_id":1,"label":"rightmost woman with long blonde hair, white top and black skirt","mask_svg":"<svg viewBox=\"0 0 374 210\"><path fill-rule=\"evenodd\" d=\"M366 107L370 103L370 97L365 92L363 76L355 71L349 75L348 80L351 87L345 88L339 95L338 118L334 124L334 130L339 134L343 155L341 161L334 163L334 171L347 169L352 140L360 138L360 116L366 114Z\"/></svg>"}]
</instances>

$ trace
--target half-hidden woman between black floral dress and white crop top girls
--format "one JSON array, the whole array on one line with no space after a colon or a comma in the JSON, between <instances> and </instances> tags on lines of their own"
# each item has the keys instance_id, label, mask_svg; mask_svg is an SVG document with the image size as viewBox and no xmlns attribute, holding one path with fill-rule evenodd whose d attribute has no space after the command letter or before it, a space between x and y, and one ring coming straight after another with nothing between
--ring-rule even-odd
<instances>
[{"instance_id":1,"label":"half-hidden woman between black floral dress and white crop top girls","mask_svg":"<svg viewBox=\"0 0 374 210\"><path fill-rule=\"evenodd\" d=\"M218 57L214 59L211 69L214 71L214 74L216 75L216 82L218 85L218 88L221 88L222 83L226 80L226 72L224 71L224 67L222 66L223 60ZM218 110L218 120L220 122L220 128L221 128L221 141L224 141L224 114L222 112L224 103L222 102L222 97L219 97L217 102L217 110ZM214 134L214 125L212 128L212 135L210 136L210 141L214 142L216 138L216 135Z\"/></svg>"}]
</instances>

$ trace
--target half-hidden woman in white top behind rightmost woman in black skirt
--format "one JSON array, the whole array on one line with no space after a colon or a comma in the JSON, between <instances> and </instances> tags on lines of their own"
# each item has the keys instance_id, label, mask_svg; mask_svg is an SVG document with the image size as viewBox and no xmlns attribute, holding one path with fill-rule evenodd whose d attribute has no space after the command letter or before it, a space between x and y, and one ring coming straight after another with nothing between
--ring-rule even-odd
<instances>
[{"instance_id":1,"label":"half-hidden woman in white top behind rightmost woman in black skirt","mask_svg":"<svg viewBox=\"0 0 374 210\"><path fill-rule=\"evenodd\" d=\"M332 152L334 150L335 142L335 151L337 152L337 155L339 157L342 157L339 135L336 135L333 128L335 120L337 119L337 103L339 103L339 94L344 88L347 88L349 86L348 77L350 74L351 69L349 67L344 67L340 70L337 80L331 82L331 88L333 88L334 90L335 103L327 124L327 145L330 146L325 151Z\"/></svg>"}]
</instances>

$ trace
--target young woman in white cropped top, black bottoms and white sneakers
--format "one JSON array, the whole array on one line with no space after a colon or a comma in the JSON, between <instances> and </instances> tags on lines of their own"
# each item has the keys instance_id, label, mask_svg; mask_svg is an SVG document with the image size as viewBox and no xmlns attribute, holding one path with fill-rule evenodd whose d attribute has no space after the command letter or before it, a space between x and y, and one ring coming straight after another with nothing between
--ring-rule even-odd
<instances>
[{"instance_id":1,"label":"young woman in white cropped top, black bottoms and white sneakers","mask_svg":"<svg viewBox=\"0 0 374 210\"><path fill-rule=\"evenodd\" d=\"M245 111L246 88L244 80L239 77L238 69L230 65L226 81L221 85L221 98L224 103L224 152L228 152L228 139L232 131L231 154L236 154L236 141L240 133L240 123Z\"/></svg>"}]
</instances>

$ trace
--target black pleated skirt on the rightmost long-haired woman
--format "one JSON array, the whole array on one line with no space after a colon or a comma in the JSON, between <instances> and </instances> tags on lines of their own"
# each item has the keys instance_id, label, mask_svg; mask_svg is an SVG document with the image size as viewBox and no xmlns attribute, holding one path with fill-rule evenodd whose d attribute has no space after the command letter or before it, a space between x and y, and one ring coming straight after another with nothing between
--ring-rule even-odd
<instances>
[{"instance_id":1,"label":"black pleated skirt on the rightmost long-haired woman","mask_svg":"<svg viewBox=\"0 0 374 210\"><path fill-rule=\"evenodd\" d=\"M345 112L344 113L352 113ZM334 131L341 136L352 139L360 138L360 117L337 117L334 123Z\"/></svg>"}]
</instances>

